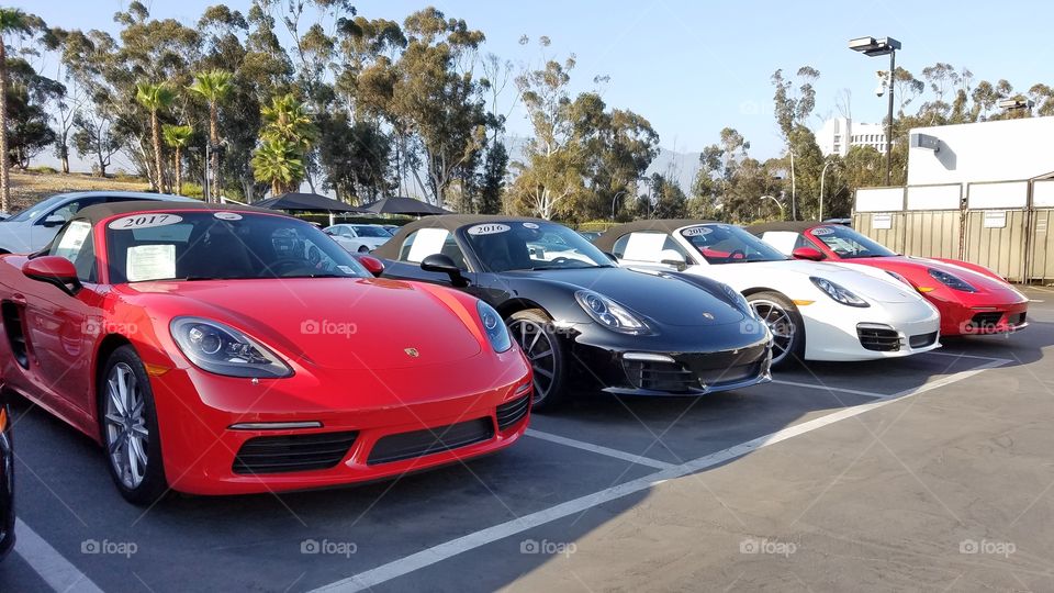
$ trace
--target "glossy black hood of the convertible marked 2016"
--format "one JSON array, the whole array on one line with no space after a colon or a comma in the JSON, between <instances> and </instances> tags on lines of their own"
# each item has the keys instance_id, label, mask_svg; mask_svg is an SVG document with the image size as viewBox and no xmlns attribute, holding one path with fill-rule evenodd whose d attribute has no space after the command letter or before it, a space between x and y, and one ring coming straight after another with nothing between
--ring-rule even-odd
<instances>
[{"instance_id":1,"label":"glossy black hood of the convertible marked 2016","mask_svg":"<svg viewBox=\"0 0 1054 593\"><path fill-rule=\"evenodd\" d=\"M745 318L731 302L668 275L626 268L564 268L500 276L518 282L537 280L565 284L571 290L588 289L665 325L703 327Z\"/></svg>"}]
</instances>

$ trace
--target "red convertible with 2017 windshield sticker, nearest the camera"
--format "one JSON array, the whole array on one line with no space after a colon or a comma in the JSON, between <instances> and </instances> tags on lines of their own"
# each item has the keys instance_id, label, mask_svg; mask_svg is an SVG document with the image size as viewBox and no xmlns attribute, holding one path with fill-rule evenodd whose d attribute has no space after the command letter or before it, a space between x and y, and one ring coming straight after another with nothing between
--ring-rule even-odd
<instances>
[{"instance_id":1,"label":"red convertible with 2017 windshield sticker, nearest the camera","mask_svg":"<svg viewBox=\"0 0 1054 593\"><path fill-rule=\"evenodd\" d=\"M0 313L5 385L98 439L137 504L399 475L527 426L530 365L490 305L272 212L87 208L0 256Z\"/></svg>"}]
</instances>

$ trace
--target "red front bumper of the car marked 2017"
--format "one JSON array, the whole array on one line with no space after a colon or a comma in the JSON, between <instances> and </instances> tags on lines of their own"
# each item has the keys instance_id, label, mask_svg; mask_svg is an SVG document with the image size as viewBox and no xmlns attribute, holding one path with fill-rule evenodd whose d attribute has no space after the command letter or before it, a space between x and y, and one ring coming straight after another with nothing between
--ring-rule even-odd
<instances>
[{"instance_id":1,"label":"red front bumper of the car marked 2017","mask_svg":"<svg viewBox=\"0 0 1054 593\"><path fill-rule=\"evenodd\" d=\"M169 370L152 378L166 478L192 494L278 492L495 452L526 430L531 396L519 350L497 358L389 372L314 369L256 384Z\"/></svg>"}]
</instances>

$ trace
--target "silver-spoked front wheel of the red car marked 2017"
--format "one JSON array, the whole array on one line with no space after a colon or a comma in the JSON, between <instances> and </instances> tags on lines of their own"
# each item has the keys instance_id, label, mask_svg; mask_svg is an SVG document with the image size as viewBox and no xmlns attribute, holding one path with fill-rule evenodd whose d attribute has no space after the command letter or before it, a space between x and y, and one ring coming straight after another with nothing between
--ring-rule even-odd
<instances>
[{"instance_id":1,"label":"silver-spoked front wheel of the red car marked 2017","mask_svg":"<svg viewBox=\"0 0 1054 593\"><path fill-rule=\"evenodd\" d=\"M132 346L121 346L110 355L96 393L103 454L113 483L130 503L153 504L168 491L168 483L154 391Z\"/></svg>"}]
</instances>

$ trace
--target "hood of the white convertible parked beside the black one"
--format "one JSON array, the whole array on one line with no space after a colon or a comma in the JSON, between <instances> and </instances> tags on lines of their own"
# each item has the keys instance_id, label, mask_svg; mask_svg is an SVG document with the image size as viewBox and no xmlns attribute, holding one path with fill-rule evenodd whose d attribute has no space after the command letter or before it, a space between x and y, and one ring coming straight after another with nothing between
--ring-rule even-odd
<instances>
[{"instance_id":1,"label":"hood of the white convertible parked beside the black one","mask_svg":"<svg viewBox=\"0 0 1054 593\"><path fill-rule=\"evenodd\" d=\"M786 275L823 278L851 290L865 300L878 303L909 303L921 299L909 287L881 270L868 273L856 267L801 259L721 265L722 268L728 266L742 267L744 272L749 271L761 278L778 279Z\"/></svg>"}]
</instances>

